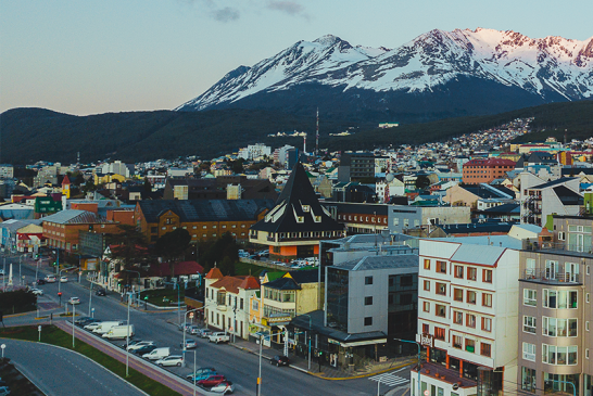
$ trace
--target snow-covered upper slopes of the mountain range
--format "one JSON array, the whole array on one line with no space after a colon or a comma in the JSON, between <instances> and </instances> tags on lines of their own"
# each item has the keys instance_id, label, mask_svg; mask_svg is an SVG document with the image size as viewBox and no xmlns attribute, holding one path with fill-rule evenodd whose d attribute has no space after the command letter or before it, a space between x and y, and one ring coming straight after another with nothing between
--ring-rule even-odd
<instances>
[{"instance_id":1,"label":"snow-covered upper slopes of the mountain range","mask_svg":"<svg viewBox=\"0 0 593 396\"><path fill-rule=\"evenodd\" d=\"M392 50L352 47L332 35L299 41L252 67L227 74L178 110L203 110L302 84L376 92L430 92L452 79L478 77L545 98L593 98L593 37L532 39L513 30L434 29Z\"/></svg>"}]
</instances>

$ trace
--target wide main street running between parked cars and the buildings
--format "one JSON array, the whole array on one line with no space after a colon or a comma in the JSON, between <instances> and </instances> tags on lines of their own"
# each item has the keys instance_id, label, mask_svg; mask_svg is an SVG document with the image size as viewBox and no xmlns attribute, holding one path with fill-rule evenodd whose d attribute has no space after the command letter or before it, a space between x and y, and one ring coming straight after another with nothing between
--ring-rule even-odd
<instances>
[{"instance_id":1,"label":"wide main street running between parked cars and the buildings","mask_svg":"<svg viewBox=\"0 0 593 396\"><path fill-rule=\"evenodd\" d=\"M13 266L14 272L14 266ZM35 267L22 266L22 273L26 282L30 284L35 278ZM49 267L45 266L39 270L39 278L49 273ZM50 283L39 286L43 290L43 296L38 302L47 311L41 309L40 315L50 311L65 311L64 302L70 297L80 298L80 305L76 306L76 311L81 315L88 315L89 311L89 290L84 288L83 283L77 282L77 277L68 276L67 283ZM58 307L58 289L62 292L62 307ZM127 306L121 302L117 295L108 295L99 297L92 295L92 307L94 317L102 320L126 320ZM68 307L70 309L70 307ZM182 332L172 322L177 323L178 314L173 312L146 312L143 309L129 309L130 323L136 328L136 338L154 341L157 346L169 346L172 355L181 355L180 343ZM55 317L55 315L54 315ZM30 322L29 317L7 318L5 323L21 324ZM182 321L182 318L181 318ZM193 337L194 338L194 337ZM206 340L198 338L198 348L195 350L197 367L214 367L219 373L223 373L236 385L236 394L255 396L255 384L257 381L258 357L250 353L235 348L231 345L210 344ZM116 341L114 344L122 345L125 341ZM193 371L193 350L186 354L187 367L171 368L169 371L185 378ZM409 378L409 372L398 373L402 378ZM298 370L277 368L263 361L262 365L262 395L377 395L377 381L374 379L355 379L348 381L327 381L313 375L308 375ZM387 382L381 383L381 394L391 388L401 386L393 384L389 386ZM398 392L395 396L404 393Z\"/></svg>"}]
</instances>

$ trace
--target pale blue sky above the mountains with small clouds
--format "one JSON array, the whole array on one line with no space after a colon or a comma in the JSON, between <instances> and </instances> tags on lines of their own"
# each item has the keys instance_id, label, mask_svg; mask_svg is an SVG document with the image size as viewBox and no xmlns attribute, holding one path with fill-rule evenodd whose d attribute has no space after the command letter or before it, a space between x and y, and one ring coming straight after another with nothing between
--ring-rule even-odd
<instances>
[{"instance_id":1,"label":"pale blue sky above the mountains with small clouds","mask_svg":"<svg viewBox=\"0 0 593 396\"><path fill-rule=\"evenodd\" d=\"M591 15L591 0L0 0L0 112L174 108L326 34L388 48L433 28L585 40Z\"/></svg>"}]
</instances>

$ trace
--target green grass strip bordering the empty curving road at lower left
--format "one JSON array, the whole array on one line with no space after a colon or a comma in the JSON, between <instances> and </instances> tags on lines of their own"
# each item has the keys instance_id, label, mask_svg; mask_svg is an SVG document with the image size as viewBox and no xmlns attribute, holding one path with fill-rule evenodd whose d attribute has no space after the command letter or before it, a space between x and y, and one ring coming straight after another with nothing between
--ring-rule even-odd
<instances>
[{"instance_id":1,"label":"green grass strip bordering the empty curving road at lower left","mask_svg":"<svg viewBox=\"0 0 593 396\"><path fill-rule=\"evenodd\" d=\"M26 340L37 342L39 340L39 332L37 325L23 325L16 328L5 328L0 330L0 337ZM67 349L72 349L72 334L68 334L54 325L42 325L41 328L41 342L46 344L62 346ZM126 378L126 365L112 358L111 356L93 348L92 346L76 340L75 348L79 354L85 355L91 360L94 360L105 369L110 370L114 374L125 379L129 383L134 384L138 388L154 396L169 396L179 395L177 392L172 391L157 381L154 381L147 375L129 369L129 376Z\"/></svg>"}]
</instances>

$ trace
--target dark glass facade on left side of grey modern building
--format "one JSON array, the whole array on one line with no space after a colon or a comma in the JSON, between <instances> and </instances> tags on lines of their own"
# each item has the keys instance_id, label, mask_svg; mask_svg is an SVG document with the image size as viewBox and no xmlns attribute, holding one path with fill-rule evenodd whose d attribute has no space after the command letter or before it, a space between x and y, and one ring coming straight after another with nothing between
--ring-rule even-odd
<instances>
[{"instance_id":1,"label":"dark glass facade on left side of grey modern building","mask_svg":"<svg viewBox=\"0 0 593 396\"><path fill-rule=\"evenodd\" d=\"M349 271L328 268L326 282L328 324L348 332Z\"/></svg>"}]
</instances>

